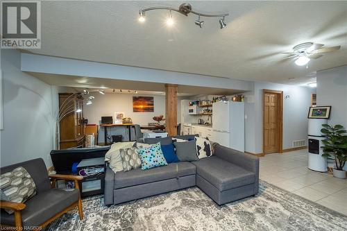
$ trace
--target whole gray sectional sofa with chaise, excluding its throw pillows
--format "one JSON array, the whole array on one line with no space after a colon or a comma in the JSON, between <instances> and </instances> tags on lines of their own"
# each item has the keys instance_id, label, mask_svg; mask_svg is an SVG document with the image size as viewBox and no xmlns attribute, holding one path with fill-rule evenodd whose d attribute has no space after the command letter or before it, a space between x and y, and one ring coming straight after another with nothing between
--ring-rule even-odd
<instances>
[{"instance_id":1,"label":"whole gray sectional sofa with chaise, excluding its throw pillows","mask_svg":"<svg viewBox=\"0 0 347 231\"><path fill-rule=\"evenodd\" d=\"M169 139L162 139L162 143L169 143ZM145 140L148 144L155 142L158 139ZM105 205L117 205L193 186L199 187L218 205L254 196L259 188L259 159L216 144L211 157L195 162L177 162L145 171L135 169L117 173L107 166Z\"/></svg>"}]
</instances>

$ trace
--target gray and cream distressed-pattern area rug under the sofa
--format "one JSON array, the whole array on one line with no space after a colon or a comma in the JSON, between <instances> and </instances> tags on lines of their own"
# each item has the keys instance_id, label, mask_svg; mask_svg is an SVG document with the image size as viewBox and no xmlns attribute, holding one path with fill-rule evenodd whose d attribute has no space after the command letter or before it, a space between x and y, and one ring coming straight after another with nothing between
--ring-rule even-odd
<instances>
[{"instance_id":1,"label":"gray and cream distressed-pattern area rug under the sofa","mask_svg":"<svg viewBox=\"0 0 347 231\"><path fill-rule=\"evenodd\" d=\"M260 182L260 193L219 206L197 187L105 207L83 200L85 219L71 211L46 230L346 230L347 216Z\"/></svg>"}]
</instances>

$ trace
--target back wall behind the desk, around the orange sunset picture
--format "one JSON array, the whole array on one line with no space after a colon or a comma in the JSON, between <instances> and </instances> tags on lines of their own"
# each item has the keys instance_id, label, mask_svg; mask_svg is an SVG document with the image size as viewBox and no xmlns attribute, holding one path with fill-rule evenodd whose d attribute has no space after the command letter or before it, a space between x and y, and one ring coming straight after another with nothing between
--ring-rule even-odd
<instances>
[{"instance_id":1,"label":"back wall behind the desk, around the orange sunset picture","mask_svg":"<svg viewBox=\"0 0 347 231\"><path fill-rule=\"evenodd\" d=\"M130 117L133 123L139 125L148 125L148 123L155 123L153 117L160 114L165 117L165 96L162 95L140 95L140 94L119 94L119 93L106 93L101 95L96 92L90 93L95 96L92 105L85 105L84 117L88 119L88 123L99 124L101 117L115 116L115 112L124 112L125 117ZM154 99L154 112L133 112L133 96L153 96ZM180 97L178 98L178 123L180 123ZM108 129L110 130L110 129ZM124 128L111 128L112 134L124 135ZM99 142L104 142L103 129L99 130Z\"/></svg>"}]
</instances>

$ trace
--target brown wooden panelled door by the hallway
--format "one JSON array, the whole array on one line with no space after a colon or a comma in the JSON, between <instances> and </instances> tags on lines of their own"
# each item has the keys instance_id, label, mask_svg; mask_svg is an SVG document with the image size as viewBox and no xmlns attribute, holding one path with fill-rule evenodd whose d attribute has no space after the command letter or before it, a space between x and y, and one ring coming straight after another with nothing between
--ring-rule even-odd
<instances>
[{"instance_id":1,"label":"brown wooden panelled door by the hallway","mask_svg":"<svg viewBox=\"0 0 347 231\"><path fill-rule=\"evenodd\" d=\"M282 153L282 97L264 91L264 154Z\"/></svg>"}]
</instances>

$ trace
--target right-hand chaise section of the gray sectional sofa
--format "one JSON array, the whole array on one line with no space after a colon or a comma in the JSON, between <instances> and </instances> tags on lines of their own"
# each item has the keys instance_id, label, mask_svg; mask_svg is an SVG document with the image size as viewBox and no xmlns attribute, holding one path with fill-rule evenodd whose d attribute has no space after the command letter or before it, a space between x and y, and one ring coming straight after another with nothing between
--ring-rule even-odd
<instances>
[{"instance_id":1,"label":"right-hand chaise section of the gray sectional sofa","mask_svg":"<svg viewBox=\"0 0 347 231\"><path fill-rule=\"evenodd\" d=\"M257 194L259 159L217 145L214 156L192 162L196 165L196 185L217 204Z\"/></svg>"}]
</instances>

